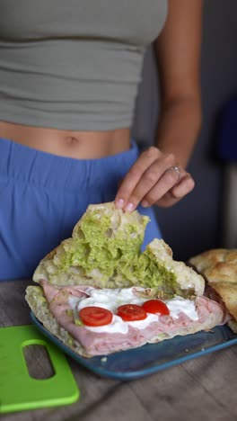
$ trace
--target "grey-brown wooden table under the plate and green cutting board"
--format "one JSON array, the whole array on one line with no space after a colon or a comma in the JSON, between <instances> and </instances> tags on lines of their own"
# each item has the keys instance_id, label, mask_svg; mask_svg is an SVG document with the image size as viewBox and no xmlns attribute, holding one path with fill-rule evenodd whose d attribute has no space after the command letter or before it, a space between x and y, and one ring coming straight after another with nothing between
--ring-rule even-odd
<instances>
[{"instance_id":1,"label":"grey-brown wooden table under the plate and green cutting board","mask_svg":"<svg viewBox=\"0 0 237 421\"><path fill-rule=\"evenodd\" d=\"M24 300L30 283L0 282L1 326L31 324ZM237 346L127 382L100 378L68 362L81 391L75 404L5 414L1 420L237 420Z\"/></svg>"}]
</instances>

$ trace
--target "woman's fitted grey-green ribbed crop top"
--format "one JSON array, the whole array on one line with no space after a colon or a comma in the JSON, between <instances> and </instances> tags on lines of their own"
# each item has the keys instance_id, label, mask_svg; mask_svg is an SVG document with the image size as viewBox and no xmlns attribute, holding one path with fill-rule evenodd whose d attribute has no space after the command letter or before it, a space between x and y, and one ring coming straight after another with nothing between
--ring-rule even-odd
<instances>
[{"instance_id":1,"label":"woman's fitted grey-green ribbed crop top","mask_svg":"<svg viewBox=\"0 0 237 421\"><path fill-rule=\"evenodd\" d=\"M0 0L0 120L130 127L166 0Z\"/></svg>"}]
</instances>

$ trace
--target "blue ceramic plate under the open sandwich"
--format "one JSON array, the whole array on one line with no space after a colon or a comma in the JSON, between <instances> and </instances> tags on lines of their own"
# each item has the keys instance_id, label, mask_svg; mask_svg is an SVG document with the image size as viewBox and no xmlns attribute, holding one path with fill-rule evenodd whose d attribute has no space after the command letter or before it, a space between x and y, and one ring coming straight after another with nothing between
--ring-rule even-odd
<instances>
[{"instance_id":1,"label":"blue ceramic plate under the open sandwich","mask_svg":"<svg viewBox=\"0 0 237 421\"><path fill-rule=\"evenodd\" d=\"M198 332L193 335L176 336L157 344L147 344L136 349L120 351L110 355L84 358L75 354L64 345L31 312L32 322L54 344L77 363L100 376L123 381L135 380L154 372L159 372L173 365L213 353L227 346L237 344L237 335L227 326L218 326L209 332Z\"/></svg>"}]
</instances>

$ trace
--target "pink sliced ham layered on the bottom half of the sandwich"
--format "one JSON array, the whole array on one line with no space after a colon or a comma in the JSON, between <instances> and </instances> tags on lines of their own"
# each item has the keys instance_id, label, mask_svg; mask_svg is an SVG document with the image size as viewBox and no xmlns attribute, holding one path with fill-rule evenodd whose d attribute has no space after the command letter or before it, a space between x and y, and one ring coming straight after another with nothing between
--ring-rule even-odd
<instances>
[{"instance_id":1,"label":"pink sliced ham layered on the bottom half of the sandwich","mask_svg":"<svg viewBox=\"0 0 237 421\"><path fill-rule=\"evenodd\" d=\"M48 306L60 327L64 327L85 349L88 355L110 354L125 350L131 347L144 345L147 342L156 342L157 336L166 334L175 336L181 329L201 330L200 325L204 325L212 314L215 314L216 324L222 324L224 312L218 302L210 300L204 296L198 297L195 301L198 320L193 320L187 314L180 312L178 318L171 316L160 316L152 321L147 327L140 329L131 326L129 323L127 333L96 332L86 326L75 324L74 316L69 305L69 297L87 296L88 285L62 286L57 287L41 280L40 285L44 290Z\"/></svg>"}]
</instances>

